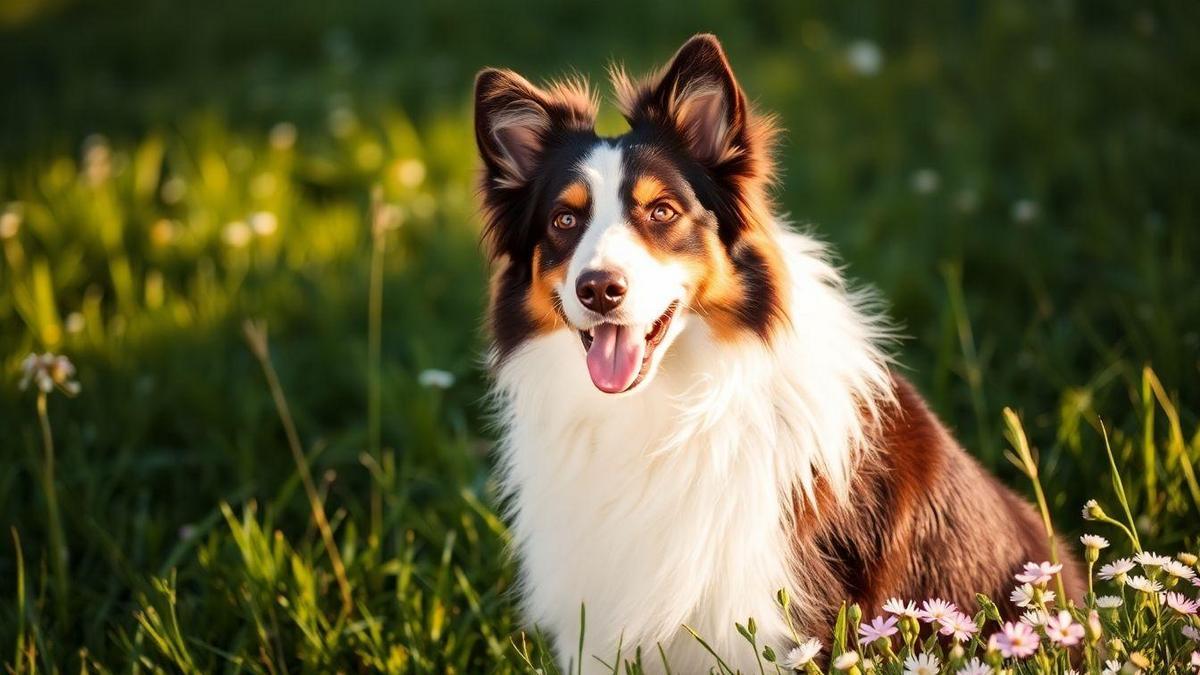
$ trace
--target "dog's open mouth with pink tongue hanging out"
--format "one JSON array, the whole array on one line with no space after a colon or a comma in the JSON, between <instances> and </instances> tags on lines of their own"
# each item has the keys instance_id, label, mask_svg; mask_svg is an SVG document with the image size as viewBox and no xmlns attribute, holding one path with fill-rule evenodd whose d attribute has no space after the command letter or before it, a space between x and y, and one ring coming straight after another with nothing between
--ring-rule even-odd
<instances>
[{"instance_id":1,"label":"dog's open mouth with pink tongue hanging out","mask_svg":"<svg viewBox=\"0 0 1200 675\"><path fill-rule=\"evenodd\" d=\"M671 303L649 329L637 324L598 323L589 330L580 330L580 340L588 353L588 375L596 389L620 394L641 384L677 309L678 300Z\"/></svg>"}]
</instances>

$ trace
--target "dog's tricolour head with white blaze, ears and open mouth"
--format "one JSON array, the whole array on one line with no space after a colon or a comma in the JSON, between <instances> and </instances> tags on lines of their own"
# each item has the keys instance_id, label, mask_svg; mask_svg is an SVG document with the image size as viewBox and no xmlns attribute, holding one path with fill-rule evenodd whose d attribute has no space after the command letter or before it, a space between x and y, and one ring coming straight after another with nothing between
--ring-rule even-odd
<instances>
[{"instance_id":1,"label":"dog's tricolour head with white blaze, ears and open mouth","mask_svg":"<svg viewBox=\"0 0 1200 675\"><path fill-rule=\"evenodd\" d=\"M786 285L767 202L773 126L716 38L692 37L644 80L612 79L630 129L601 138L586 84L485 70L475 137L498 356L570 330L580 368L618 394L654 377L689 322L767 338Z\"/></svg>"}]
</instances>

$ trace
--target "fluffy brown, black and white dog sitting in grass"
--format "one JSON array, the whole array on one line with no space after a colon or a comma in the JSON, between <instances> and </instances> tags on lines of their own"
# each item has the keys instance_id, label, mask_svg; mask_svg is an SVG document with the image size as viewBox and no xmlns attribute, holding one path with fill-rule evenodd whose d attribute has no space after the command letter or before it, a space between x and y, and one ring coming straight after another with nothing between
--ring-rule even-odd
<instances>
[{"instance_id":1,"label":"fluffy brown, black and white dog sitting in grass","mask_svg":"<svg viewBox=\"0 0 1200 675\"><path fill-rule=\"evenodd\" d=\"M776 125L720 42L612 83L617 137L583 80L475 83L499 484L559 663L640 650L653 673L661 649L707 671L686 626L749 673L736 621L784 653L788 620L828 646L842 602L1007 598L1050 560L1039 518L896 374L871 295L774 215Z\"/></svg>"}]
</instances>

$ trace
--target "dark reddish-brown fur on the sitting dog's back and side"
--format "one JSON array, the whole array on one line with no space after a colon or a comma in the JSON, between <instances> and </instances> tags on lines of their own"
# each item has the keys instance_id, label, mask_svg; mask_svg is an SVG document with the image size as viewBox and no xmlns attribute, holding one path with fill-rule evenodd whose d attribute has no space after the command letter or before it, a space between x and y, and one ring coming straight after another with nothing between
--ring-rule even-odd
<instances>
[{"instance_id":1,"label":"dark reddish-brown fur on the sitting dog's back and side","mask_svg":"<svg viewBox=\"0 0 1200 675\"><path fill-rule=\"evenodd\" d=\"M1040 519L959 447L907 381L893 381L896 404L878 426L877 449L858 459L848 502L827 488L817 508L797 498L797 578L810 598L800 626L828 637L844 599L868 616L889 597L943 598L973 613L977 592L1016 617L1013 574L1050 560ZM1080 565L1057 544L1067 595L1079 601Z\"/></svg>"}]
</instances>

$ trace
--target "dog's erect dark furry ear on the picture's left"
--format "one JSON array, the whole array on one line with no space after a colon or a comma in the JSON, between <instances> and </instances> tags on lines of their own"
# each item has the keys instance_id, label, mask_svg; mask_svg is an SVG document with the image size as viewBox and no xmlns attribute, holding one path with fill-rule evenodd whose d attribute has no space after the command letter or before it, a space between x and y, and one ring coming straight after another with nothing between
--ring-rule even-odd
<instances>
[{"instance_id":1,"label":"dog's erect dark furry ear on the picture's left","mask_svg":"<svg viewBox=\"0 0 1200 675\"><path fill-rule=\"evenodd\" d=\"M512 71L485 68L475 78L475 142L487 185L520 187L529 181L556 135L595 123L586 83L539 89Z\"/></svg>"}]
</instances>

